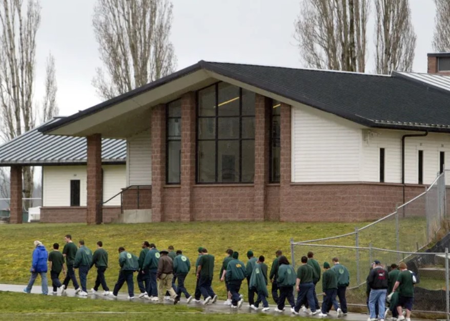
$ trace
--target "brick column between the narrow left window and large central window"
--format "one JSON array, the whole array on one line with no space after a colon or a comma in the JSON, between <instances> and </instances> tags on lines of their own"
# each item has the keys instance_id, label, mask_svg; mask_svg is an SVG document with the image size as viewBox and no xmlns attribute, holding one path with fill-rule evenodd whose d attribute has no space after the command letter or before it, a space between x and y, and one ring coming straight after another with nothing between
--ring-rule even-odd
<instances>
[{"instance_id":1,"label":"brick column between the narrow left window and large central window","mask_svg":"<svg viewBox=\"0 0 450 321\"><path fill-rule=\"evenodd\" d=\"M194 221L192 187L195 184L195 93L181 98L181 213L180 221Z\"/></svg>"}]
</instances>

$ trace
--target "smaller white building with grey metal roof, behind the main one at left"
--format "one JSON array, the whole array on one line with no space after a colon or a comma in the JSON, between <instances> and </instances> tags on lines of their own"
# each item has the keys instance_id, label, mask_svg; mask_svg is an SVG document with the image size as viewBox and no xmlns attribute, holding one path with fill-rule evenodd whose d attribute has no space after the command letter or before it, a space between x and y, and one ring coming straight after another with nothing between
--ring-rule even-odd
<instances>
[{"instance_id":1,"label":"smaller white building with grey metal roof, behind the main one at left","mask_svg":"<svg viewBox=\"0 0 450 321\"><path fill-rule=\"evenodd\" d=\"M43 126L61 119L54 118ZM42 166L41 222L86 222L86 139L44 135L39 128L0 146L0 166L11 166L12 173L22 166ZM124 140L102 140L103 201L126 185L126 155ZM22 179L21 171L18 174ZM121 213L120 197L107 202L103 212L105 222L116 219Z\"/></svg>"}]
</instances>

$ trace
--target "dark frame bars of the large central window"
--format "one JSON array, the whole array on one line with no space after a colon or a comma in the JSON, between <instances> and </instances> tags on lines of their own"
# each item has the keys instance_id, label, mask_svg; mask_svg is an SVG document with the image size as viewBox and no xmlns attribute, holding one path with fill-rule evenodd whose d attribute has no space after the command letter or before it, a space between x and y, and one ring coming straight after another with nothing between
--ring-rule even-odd
<instances>
[{"instance_id":1,"label":"dark frame bars of the large central window","mask_svg":"<svg viewBox=\"0 0 450 321\"><path fill-rule=\"evenodd\" d=\"M214 116L200 116L200 108L199 108L199 103L200 103L200 99L199 99L199 94L200 91L213 87L214 86L214 92L215 92L215 106L218 106L219 104L219 84L220 83L226 83L223 81L218 81L215 82L211 85L208 85L206 87L200 88L198 90L196 90L195 92L195 184L198 185L215 185L215 184L220 184L220 185L231 185L231 184L254 184L255 181L255 176L253 174L253 180L252 181L242 181L242 141L253 141L253 143L255 143L255 134L253 135L253 138L242 138L242 119L248 118L251 119L253 118L253 120L255 121L256 118L256 110L253 113L253 115L248 115L242 114L242 91L243 90L248 90L248 89L243 89L242 87L239 86L235 86L233 84L229 84L232 86L235 86L237 88L239 88L239 115L236 116L219 116L219 108L215 108L215 114ZM248 90L250 92L252 92L251 90ZM254 94L254 93L253 93ZM238 138L219 138L219 119L223 119L223 118L238 118L239 119L239 135ZM200 119L214 119L214 126L215 126L215 133L214 133L214 139L200 139L199 138L199 120ZM255 133L256 133L256 128L255 128ZM238 176L238 181L230 181L230 182L223 182L223 181L219 181L219 142L225 142L225 141L234 141L234 142L238 142L239 143L239 164L238 164L238 171L239 171L239 176ZM214 142L215 146L215 157L214 157L214 169L215 169L215 173L214 173L214 181L199 181L199 142ZM255 159L253 160L253 167L255 166ZM254 169L253 169L254 170Z\"/></svg>"}]
</instances>

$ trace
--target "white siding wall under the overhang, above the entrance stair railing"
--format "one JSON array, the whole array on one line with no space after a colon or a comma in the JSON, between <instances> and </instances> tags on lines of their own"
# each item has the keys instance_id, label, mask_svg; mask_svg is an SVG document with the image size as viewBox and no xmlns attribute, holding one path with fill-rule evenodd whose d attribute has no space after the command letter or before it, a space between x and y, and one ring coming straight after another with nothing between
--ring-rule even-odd
<instances>
[{"instance_id":1,"label":"white siding wall under the overhang, above the entrance stair railing","mask_svg":"<svg viewBox=\"0 0 450 321\"><path fill-rule=\"evenodd\" d=\"M150 130L127 139L127 186L152 184Z\"/></svg>"}]
</instances>

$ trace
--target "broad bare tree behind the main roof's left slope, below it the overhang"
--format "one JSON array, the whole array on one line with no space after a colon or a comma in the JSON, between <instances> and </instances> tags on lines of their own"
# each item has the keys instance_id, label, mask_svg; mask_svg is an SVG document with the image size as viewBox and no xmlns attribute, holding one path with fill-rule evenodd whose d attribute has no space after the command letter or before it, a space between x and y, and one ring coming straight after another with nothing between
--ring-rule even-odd
<instances>
[{"instance_id":1,"label":"broad bare tree behind the main roof's left slope, below it the overhang","mask_svg":"<svg viewBox=\"0 0 450 321\"><path fill-rule=\"evenodd\" d=\"M100 97L115 97L174 71L169 0L97 0L93 26L105 69L97 68L92 81Z\"/></svg>"}]
</instances>

